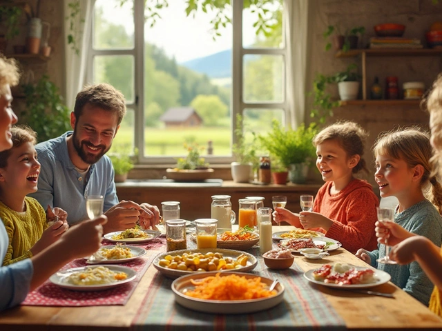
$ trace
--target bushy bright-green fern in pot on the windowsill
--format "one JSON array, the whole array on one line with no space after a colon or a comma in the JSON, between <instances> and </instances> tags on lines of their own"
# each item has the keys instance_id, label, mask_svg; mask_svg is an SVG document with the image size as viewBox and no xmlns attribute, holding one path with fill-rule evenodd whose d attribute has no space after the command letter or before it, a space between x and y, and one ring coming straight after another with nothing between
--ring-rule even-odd
<instances>
[{"instance_id":1,"label":"bushy bright-green fern in pot on the windowsill","mask_svg":"<svg viewBox=\"0 0 442 331\"><path fill-rule=\"evenodd\" d=\"M301 183L305 181L307 176L309 161L316 154L316 149L311 141L317 133L316 123L311 123L308 127L302 123L296 130L285 130L278 121L273 120L271 131L267 135L260 135L258 139L262 147L276 157L282 167L286 170L289 169L291 181ZM296 170L298 168L301 170ZM303 174L303 177L300 177L299 174L291 174L294 171Z\"/></svg>"}]
</instances>

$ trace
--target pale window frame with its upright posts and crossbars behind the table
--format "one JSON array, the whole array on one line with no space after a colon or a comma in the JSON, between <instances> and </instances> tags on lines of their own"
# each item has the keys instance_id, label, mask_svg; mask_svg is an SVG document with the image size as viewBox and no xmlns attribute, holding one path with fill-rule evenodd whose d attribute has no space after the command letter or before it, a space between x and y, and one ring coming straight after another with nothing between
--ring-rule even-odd
<instances>
[{"instance_id":1,"label":"pale window frame with its upright posts and crossbars behind the table","mask_svg":"<svg viewBox=\"0 0 442 331\"><path fill-rule=\"evenodd\" d=\"M95 4L95 0L94 4ZM93 42L90 43L90 51L88 52L87 74L86 82L93 81L93 61L96 56L100 55L132 55L134 57L135 72L134 72L134 101L133 103L126 103L127 108L134 111L135 128L134 128L134 144L138 148L138 159L140 164L175 164L175 157L152 157L144 155L144 0L134 1L134 48L125 50L95 50L93 49ZM244 109L282 109L287 118L289 111L289 104L287 102L287 79L285 74L287 72L287 43L284 42L282 48L244 48L242 46L242 8L243 0L231 0L233 19L232 19L232 94L231 94L231 134L233 143L236 142L234 132L236 130L236 115L244 114ZM90 15L93 19L94 15ZM283 14L283 23L287 19L287 14ZM94 27L94 26L93 26ZM282 28L282 31L285 31ZM90 39L93 40L93 28L90 29ZM284 100L282 102L245 102L243 97L243 58L248 54L258 55L281 55L284 62L285 72L283 72L283 89ZM85 83L86 83L85 82ZM282 123L285 126L285 123ZM198 130L198 129L195 129ZM233 155L229 157L206 157L207 161L212 164L230 163L235 161Z\"/></svg>"}]
</instances>

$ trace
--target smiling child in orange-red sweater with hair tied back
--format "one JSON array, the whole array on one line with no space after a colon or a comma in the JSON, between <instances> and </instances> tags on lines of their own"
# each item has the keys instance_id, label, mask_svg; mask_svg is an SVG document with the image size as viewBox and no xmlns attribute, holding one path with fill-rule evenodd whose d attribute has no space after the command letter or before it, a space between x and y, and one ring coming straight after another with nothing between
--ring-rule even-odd
<instances>
[{"instance_id":1,"label":"smiling child in orange-red sweater with hair tied back","mask_svg":"<svg viewBox=\"0 0 442 331\"><path fill-rule=\"evenodd\" d=\"M314 137L316 167L325 184L319 189L311 212L300 217L285 208L276 208L276 222L287 221L297 228L318 229L336 239L343 248L356 253L358 248L377 247L374 223L378 197L372 185L354 174L365 170L364 140L366 132L354 122L335 123Z\"/></svg>"}]
</instances>

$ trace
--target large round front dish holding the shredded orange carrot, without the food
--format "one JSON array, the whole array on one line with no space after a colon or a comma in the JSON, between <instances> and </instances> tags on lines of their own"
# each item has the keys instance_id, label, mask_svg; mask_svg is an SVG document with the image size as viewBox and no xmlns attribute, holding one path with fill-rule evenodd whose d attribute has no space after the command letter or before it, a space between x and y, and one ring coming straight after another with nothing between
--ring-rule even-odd
<instances>
[{"instance_id":1,"label":"large round front dish holding the shredded orange carrot, without the food","mask_svg":"<svg viewBox=\"0 0 442 331\"><path fill-rule=\"evenodd\" d=\"M284 285L278 283L275 290L278 292L276 296L251 299L251 300L235 300L235 301L221 301L221 300L205 300L189 297L182 293L183 290L193 288L191 279L202 279L209 276L214 276L218 272L199 272L198 274L190 274L187 276L175 279L172 283L173 294L175 294L175 301L180 305L189 308L191 310L197 310L198 312L210 312L213 314L249 314L251 312L260 312L261 310L267 310L278 303L281 303L284 299ZM258 277L255 274L244 274L242 272L222 272L222 276L229 274L238 274L238 276L244 276L248 278ZM271 285L272 279L261 277L261 281L267 285Z\"/></svg>"}]
</instances>

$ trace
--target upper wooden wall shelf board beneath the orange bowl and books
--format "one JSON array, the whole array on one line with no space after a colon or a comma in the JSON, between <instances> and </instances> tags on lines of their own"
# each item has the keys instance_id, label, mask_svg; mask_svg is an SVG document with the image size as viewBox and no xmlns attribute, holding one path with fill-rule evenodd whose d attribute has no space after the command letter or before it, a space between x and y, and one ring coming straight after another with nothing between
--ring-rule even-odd
<instances>
[{"instance_id":1,"label":"upper wooden wall shelf board beneath the orange bowl and books","mask_svg":"<svg viewBox=\"0 0 442 331\"><path fill-rule=\"evenodd\" d=\"M430 57L442 55L442 48L367 48L342 50L336 52L335 57L358 57L365 54L367 57Z\"/></svg>"}]
</instances>

